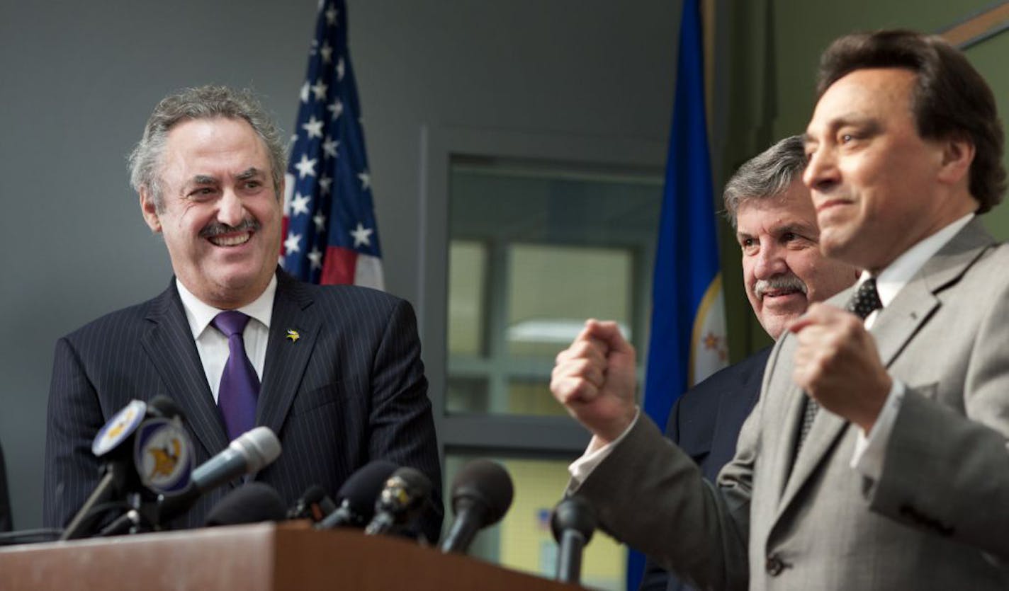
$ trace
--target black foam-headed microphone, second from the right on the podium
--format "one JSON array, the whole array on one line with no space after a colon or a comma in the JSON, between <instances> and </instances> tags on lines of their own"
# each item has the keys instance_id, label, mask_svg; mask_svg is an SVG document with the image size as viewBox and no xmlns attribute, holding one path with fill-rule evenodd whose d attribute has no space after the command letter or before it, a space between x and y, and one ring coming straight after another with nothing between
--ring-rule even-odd
<instances>
[{"instance_id":1,"label":"black foam-headed microphone, second from the right on the podium","mask_svg":"<svg viewBox=\"0 0 1009 591\"><path fill-rule=\"evenodd\" d=\"M496 523L512 506L512 477L496 462L473 460L452 481L455 520L442 542L442 552L465 554L476 533Z\"/></svg>"}]
</instances>

